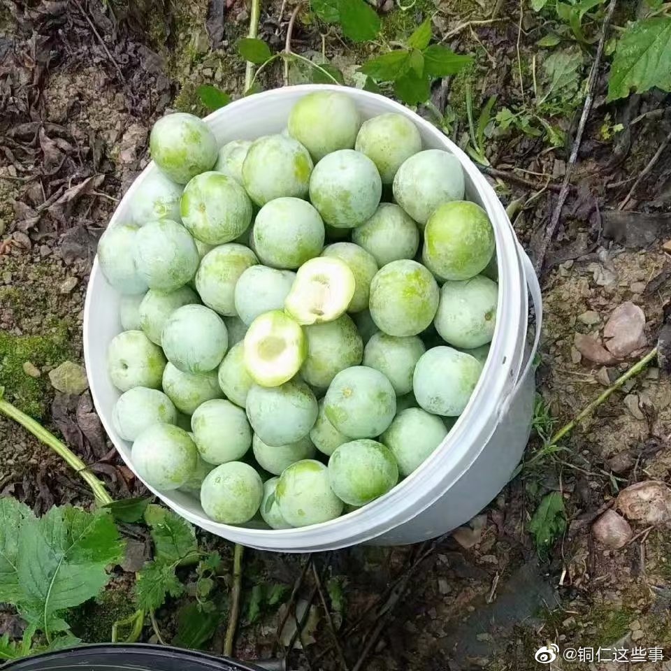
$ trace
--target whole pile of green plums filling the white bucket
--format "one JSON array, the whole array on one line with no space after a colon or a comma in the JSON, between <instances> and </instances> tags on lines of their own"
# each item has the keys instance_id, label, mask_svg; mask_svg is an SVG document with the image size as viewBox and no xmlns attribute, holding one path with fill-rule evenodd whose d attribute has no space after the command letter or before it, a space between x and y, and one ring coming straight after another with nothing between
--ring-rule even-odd
<instances>
[{"instance_id":1,"label":"whole pile of green plums filling the white bucket","mask_svg":"<svg viewBox=\"0 0 671 671\"><path fill-rule=\"evenodd\" d=\"M222 147L167 115L150 151L98 247L122 294L108 371L136 472L273 529L387 493L463 412L496 322L493 228L459 160L325 91L281 134Z\"/></svg>"}]
</instances>

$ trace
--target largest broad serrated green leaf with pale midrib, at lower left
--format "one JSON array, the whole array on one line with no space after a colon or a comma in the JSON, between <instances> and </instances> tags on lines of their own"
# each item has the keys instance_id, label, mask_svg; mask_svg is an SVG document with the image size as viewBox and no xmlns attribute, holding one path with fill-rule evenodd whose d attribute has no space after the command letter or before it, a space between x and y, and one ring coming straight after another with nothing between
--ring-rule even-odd
<instances>
[{"instance_id":1,"label":"largest broad serrated green leaf with pale midrib, at lower left","mask_svg":"<svg viewBox=\"0 0 671 671\"><path fill-rule=\"evenodd\" d=\"M41 519L24 521L18 564L23 595L17 604L24 619L44 631L62 630L57 614L96 596L122 549L106 511L53 507Z\"/></svg>"}]
</instances>

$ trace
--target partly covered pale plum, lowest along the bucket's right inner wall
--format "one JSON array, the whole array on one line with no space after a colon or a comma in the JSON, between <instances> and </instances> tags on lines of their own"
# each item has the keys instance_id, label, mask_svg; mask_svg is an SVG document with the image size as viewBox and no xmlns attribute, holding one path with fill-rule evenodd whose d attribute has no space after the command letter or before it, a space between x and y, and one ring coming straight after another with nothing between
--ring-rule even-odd
<instances>
[{"instance_id":1,"label":"partly covered pale plum, lowest along the bucket's right inner wall","mask_svg":"<svg viewBox=\"0 0 671 671\"><path fill-rule=\"evenodd\" d=\"M398 472L407 476L431 456L446 435L442 417L421 407L408 407L396 414L380 440L394 454Z\"/></svg>"}]
</instances>

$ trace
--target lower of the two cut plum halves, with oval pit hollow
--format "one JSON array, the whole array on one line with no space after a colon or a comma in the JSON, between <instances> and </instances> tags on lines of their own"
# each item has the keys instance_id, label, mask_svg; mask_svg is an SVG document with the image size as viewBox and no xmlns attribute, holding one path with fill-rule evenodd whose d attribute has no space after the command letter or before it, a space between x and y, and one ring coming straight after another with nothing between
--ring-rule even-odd
<instances>
[{"instance_id":1,"label":"lower of the two cut plum halves, with oval pit hollow","mask_svg":"<svg viewBox=\"0 0 671 671\"><path fill-rule=\"evenodd\" d=\"M278 387L291 380L307 354L303 329L282 310L259 315L245 333L245 368L261 387Z\"/></svg>"}]
</instances>

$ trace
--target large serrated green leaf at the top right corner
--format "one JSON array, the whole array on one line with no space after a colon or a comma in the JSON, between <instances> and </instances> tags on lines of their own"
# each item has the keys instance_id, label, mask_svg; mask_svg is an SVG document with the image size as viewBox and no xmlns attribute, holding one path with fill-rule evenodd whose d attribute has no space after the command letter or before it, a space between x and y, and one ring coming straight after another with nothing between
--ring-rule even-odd
<instances>
[{"instance_id":1,"label":"large serrated green leaf at the top right corner","mask_svg":"<svg viewBox=\"0 0 671 671\"><path fill-rule=\"evenodd\" d=\"M671 91L671 16L638 21L626 29L610 68L608 100L653 87Z\"/></svg>"}]
</instances>

